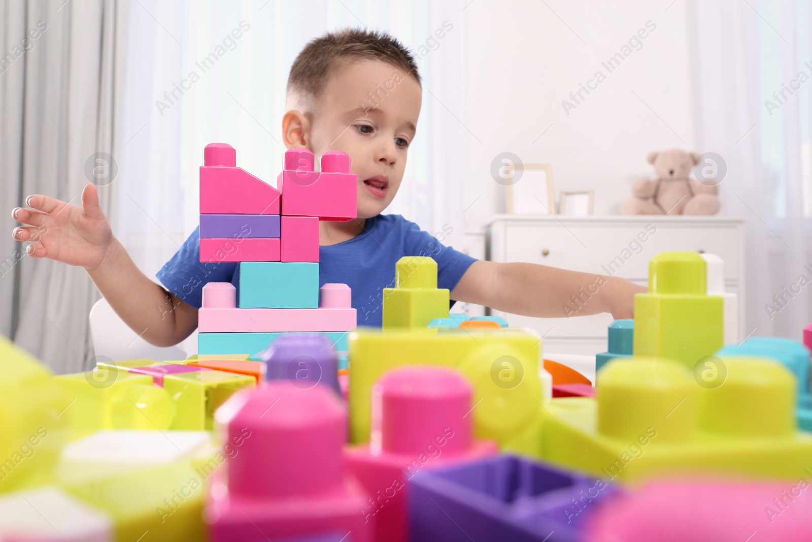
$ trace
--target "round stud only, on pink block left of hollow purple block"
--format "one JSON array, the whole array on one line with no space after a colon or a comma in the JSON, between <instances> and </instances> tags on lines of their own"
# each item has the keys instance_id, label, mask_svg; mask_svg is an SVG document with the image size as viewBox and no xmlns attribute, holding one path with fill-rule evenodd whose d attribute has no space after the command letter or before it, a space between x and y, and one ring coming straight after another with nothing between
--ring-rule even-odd
<instances>
[{"instance_id":1,"label":"round stud only, on pink block left of hollow purple block","mask_svg":"<svg viewBox=\"0 0 812 542\"><path fill-rule=\"evenodd\" d=\"M471 384L446 367L389 371L372 388L372 428L381 436L382 450L412 454L440 445L447 455L467 452L472 393Z\"/></svg>"}]
</instances>

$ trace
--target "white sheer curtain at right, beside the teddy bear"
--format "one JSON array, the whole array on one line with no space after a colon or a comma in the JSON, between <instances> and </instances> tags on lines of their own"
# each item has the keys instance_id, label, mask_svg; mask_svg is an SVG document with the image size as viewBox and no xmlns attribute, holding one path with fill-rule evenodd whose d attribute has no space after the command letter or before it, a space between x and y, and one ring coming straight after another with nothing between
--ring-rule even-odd
<instances>
[{"instance_id":1,"label":"white sheer curtain at right, beside the teddy bear","mask_svg":"<svg viewBox=\"0 0 812 542\"><path fill-rule=\"evenodd\" d=\"M689 6L698 146L727 164L723 213L749 216L745 332L800 338L812 321L810 2Z\"/></svg>"}]
</instances>

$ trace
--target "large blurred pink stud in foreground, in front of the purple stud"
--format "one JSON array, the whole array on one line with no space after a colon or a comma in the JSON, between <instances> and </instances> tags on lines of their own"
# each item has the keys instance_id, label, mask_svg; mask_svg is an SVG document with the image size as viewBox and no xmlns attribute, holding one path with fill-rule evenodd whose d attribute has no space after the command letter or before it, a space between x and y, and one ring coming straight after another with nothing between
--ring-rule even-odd
<instances>
[{"instance_id":1,"label":"large blurred pink stud in foreground, in front of the purple stud","mask_svg":"<svg viewBox=\"0 0 812 542\"><path fill-rule=\"evenodd\" d=\"M229 491L279 498L340 488L346 415L327 386L272 380L238 392L214 414L223 442L240 453L227 462Z\"/></svg>"}]
</instances>

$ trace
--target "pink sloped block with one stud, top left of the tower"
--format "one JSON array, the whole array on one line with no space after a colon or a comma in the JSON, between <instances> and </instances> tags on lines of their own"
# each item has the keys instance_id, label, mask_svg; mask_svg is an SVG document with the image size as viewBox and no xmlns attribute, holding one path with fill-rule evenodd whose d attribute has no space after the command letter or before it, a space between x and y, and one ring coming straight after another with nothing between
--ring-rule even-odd
<instances>
[{"instance_id":1,"label":"pink sloped block with one stud, top left of the tower","mask_svg":"<svg viewBox=\"0 0 812 542\"><path fill-rule=\"evenodd\" d=\"M201 215L279 215L279 191L236 165L236 151L231 145L205 145Z\"/></svg>"}]
</instances>

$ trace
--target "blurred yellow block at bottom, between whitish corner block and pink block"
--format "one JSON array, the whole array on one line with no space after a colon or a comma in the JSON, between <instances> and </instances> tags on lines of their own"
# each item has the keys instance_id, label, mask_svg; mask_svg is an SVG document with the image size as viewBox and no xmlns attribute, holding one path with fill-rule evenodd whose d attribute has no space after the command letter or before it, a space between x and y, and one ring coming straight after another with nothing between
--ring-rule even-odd
<instances>
[{"instance_id":1,"label":"blurred yellow block at bottom, between whitish corner block and pink block","mask_svg":"<svg viewBox=\"0 0 812 542\"><path fill-rule=\"evenodd\" d=\"M113 516L115 540L205 540L208 480L188 459L114 472L59 470L58 483Z\"/></svg>"}]
</instances>

